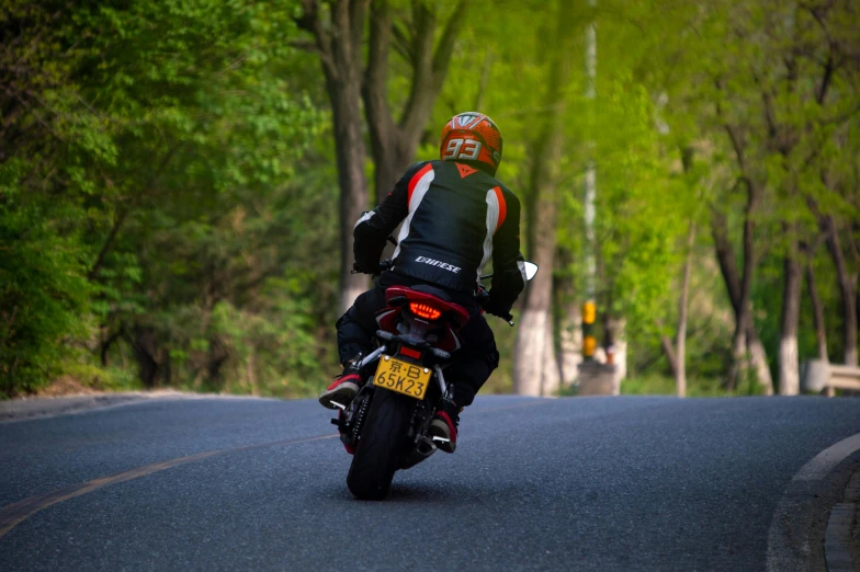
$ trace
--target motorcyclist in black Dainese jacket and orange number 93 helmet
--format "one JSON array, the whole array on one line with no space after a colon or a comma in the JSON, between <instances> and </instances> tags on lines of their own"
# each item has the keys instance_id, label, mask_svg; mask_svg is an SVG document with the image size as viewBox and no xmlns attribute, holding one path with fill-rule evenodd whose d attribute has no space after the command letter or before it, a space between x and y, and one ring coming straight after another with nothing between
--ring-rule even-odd
<instances>
[{"instance_id":1,"label":"motorcyclist in black Dainese jacket and orange number 93 helmet","mask_svg":"<svg viewBox=\"0 0 860 572\"><path fill-rule=\"evenodd\" d=\"M442 288L472 317L459 332L461 347L453 354L446 379L453 384L453 401L443 400L430 425L430 434L456 448L459 413L498 366L499 353L493 331L482 312L509 313L525 284L520 254L520 202L495 179L501 161L501 134L480 113L455 115L442 129L440 160L410 167L394 190L374 210L364 213L353 229L355 266L377 274L388 236L403 221L394 265L382 272L376 285L362 294L337 322L338 350L343 374L319 397L348 403L364 382L353 359L374 348L376 316L386 308L385 289L430 284ZM489 297L475 298L478 278L491 260Z\"/></svg>"}]
</instances>

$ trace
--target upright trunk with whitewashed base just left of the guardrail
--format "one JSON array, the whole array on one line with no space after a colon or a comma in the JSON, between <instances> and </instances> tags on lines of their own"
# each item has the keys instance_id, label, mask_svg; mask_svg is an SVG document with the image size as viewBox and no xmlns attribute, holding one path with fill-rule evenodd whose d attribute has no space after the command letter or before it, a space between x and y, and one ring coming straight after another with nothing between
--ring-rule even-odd
<instances>
[{"instance_id":1,"label":"upright trunk with whitewashed base just left of the guardrail","mask_svg":"<svg viewBox=\"0 0 860 572\"><path fill-rule=\"evenodd\" d=\"M780 396L800 393L801 376L797 355L797 321L801 311L803 271L797 260L796 243L792 243L784 261L785 285L782 294L782 328L779 356Z\"/></svg>"}]
</instances>

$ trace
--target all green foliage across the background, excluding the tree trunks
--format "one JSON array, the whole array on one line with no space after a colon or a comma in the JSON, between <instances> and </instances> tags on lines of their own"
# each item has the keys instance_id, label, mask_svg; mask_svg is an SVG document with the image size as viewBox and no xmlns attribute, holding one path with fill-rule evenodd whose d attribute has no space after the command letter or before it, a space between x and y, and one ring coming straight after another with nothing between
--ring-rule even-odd
<instances>
[{"instance_id":1,"label":"all green foliage across the background, excluding the tree trunks","mask_svg":"<svg viewBox=\"0 0 860 572\"><path fill-rule=\"evenodd\" d=\"M834 217L849 254L860 242L851 10L584 3L569 26L585 37L597 24L597 96L576 71L562 111L540 103L553 12L473 3L483 15L461 30L416 159L437 156L444 121L477 107L505 134L499 178L522 195L535 119L554 114L565 134L556 234L573 253L556 278L585 283L581 188L593 160L599 307L626 320L625 392L674 392L660 336L675 332L691 224L690 393L720 392L734 314L708 227L712 211L725 215L739 252L754 181L751 299L776 369L782 261L818 238L808 205ZM336 371L338 173L318 57L293 47L299 12L292 0L2 2L0 397L59 375L106 389L306 396ZM395 46L387 88L399 108L412 67L408 39ZM743 130L743 165L726 125ZM810 256L839 361L836 270L823 245ZM858 259L848 263L856 275ZM502 362L487 391L508 391L516 330L491 323ZM806 297L799 339L813 357Z\"/></svg>"}]
</instances>

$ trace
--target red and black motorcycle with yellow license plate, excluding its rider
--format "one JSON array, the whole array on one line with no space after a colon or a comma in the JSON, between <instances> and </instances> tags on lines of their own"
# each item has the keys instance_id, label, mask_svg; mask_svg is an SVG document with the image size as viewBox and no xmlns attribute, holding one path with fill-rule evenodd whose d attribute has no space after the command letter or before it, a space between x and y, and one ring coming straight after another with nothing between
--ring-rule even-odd
<instances>
[{"instance_id":1,"label":"red and black motorcycle with yellow license plate, excluding its rider","mask_svg":"<svg viewBox=\"0 0 860 572\"><path fill-rule=\"evenodd\" d=\"M538 265L524 264L530 281ZM391 265L384 261L381 270ZM442 400L452 399L444 369L460 347L457 330L469 319L444 290L430 285L393 286L385 296L387 308L376 318L378 346L360 356L359 370L366 381L350 403L335 403L340 411L331 420L353 455L347 487L362 500L384 499L396 471L427 460L437 451L437 442L445 441L430 438L428 431ZM478 301L487 296L479 284ZM513 325L512 316L500 318Z\"/></svg>"}]
</instances>

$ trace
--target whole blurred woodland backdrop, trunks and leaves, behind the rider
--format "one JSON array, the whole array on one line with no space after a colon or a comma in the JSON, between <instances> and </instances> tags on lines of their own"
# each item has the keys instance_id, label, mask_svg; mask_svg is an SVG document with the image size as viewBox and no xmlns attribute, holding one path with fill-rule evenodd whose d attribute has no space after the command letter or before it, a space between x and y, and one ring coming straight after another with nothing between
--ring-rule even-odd
<instances>
[{"instance_id":1,"label":"whole blurred woodland backdrop, trunks and leaves, behind the rider","mask_svg":"<svg viewBox=\"0 0 860 572\"><path fill-rule=\"evenodd\" d=\"M366 286L353 219L471 110L543 268L519 330L491 321L488 390L573 382L589 244L622 391L792 394L803 359L857 364L856 2L0 7L4 397L317 391Z\"/></svg>"}]
</instances>

